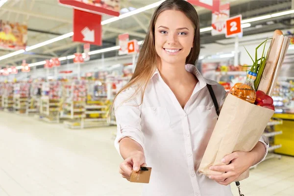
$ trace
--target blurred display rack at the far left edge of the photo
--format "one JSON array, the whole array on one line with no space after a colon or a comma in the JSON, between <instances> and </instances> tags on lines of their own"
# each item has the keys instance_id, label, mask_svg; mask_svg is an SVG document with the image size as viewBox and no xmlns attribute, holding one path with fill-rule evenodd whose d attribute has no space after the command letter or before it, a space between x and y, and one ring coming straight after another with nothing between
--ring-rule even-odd
<instances>
[{"instance_id":1,"label":"blurred display rack at the far left edge of the photo","mask_svg":"<svg viewBox=\"0 0 294 196\"><path fill-rule=\"evenodd\" d=\"M13 84L5 83L4 91L2 96L2 107L4 111L12 112L13 111Z\"/></svg>"}]
</instances>

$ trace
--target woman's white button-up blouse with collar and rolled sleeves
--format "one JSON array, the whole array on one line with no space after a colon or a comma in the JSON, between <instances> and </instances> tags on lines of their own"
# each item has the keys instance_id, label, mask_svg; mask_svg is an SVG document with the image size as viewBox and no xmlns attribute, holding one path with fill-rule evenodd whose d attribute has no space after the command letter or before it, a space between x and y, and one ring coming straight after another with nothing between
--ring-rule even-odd
<instances>
[{"instance_id":1,"label":"woman's white button-up blouse with collar and rolled sleeves","mask_svg":"<svg viewBox=\"0 0 294 196\"><path fill-rule=\"evenodd\" d=\"M187 64L186 70L195 74L199 82L184 109L158 70L147 85L141 105L140 94L124 102L135 92L134 88L117 97L115 147L119 151L119 142L124 137L143 147L147 167L152 168L143 196L232 196L230 186L198 172L218 119L206 83L212 85L219 105L226 92L217 82L205 79L194 65ZM268 139L262 136L260 142L268 151Z\"/></svg>"}]
</instances>

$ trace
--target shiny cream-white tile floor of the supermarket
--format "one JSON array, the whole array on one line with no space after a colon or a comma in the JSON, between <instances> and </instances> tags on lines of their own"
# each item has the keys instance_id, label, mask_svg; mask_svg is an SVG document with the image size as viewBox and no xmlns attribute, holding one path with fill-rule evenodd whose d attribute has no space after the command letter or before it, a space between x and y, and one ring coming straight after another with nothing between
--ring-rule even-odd
<instances>
[{"instance_id":1,"label":"shiny cream-white tile floor of the supermarket","mask_svg":"<svg viewBox=\"0 0 294 196\"><path fill-rule=\"evenodd\" d=\"M115 127L72 130L0 112L0 196L140 196L120 177ZM271 159L242 182L245 196L294 196L294 157ZM232 186L235 196L238 191Z\"/></svg>"}]
</instances>

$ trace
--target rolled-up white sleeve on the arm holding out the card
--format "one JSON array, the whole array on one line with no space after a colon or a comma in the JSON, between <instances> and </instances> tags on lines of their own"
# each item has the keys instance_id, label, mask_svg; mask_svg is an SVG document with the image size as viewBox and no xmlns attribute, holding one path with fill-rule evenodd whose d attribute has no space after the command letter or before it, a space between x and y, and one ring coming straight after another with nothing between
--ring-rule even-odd
<instances>
[{"instance_id":1,"label":"rolled-up white sleeve on the arm holding out the card","mask_svg":"<svg viewBox=\"0 0 294 196\"><path fill-rule=\"evenodd\" d=\"M145 151L144 134L141 130L141 106L137 100L140 96L136 95L134 98L130 98L134 92L134 88L124 90L117 96L114 103L117 123L117 136L114 145L120 155L120 141L125 137L139 143Z\"/></svg>"}]
</instances>

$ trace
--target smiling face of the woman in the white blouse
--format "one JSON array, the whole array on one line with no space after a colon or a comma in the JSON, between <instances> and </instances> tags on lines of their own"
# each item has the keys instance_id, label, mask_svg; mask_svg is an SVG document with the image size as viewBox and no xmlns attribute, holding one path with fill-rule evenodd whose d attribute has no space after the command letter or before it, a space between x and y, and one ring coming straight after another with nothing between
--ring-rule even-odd
<instances>
[{"instance_id":1,"label":"smiling face of the woman in the white blouse","mask_svg":"<svg viewBox=\"0 0 294 196\"><path fill-rule=\"evenodd\" d=\"M185 63L193 48L194 32L190 19L181 11L166 10L155 23L155 49L162 63Z\"/></svg>"}]
</instances>

